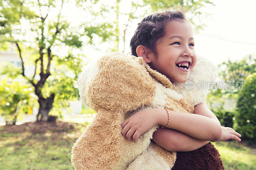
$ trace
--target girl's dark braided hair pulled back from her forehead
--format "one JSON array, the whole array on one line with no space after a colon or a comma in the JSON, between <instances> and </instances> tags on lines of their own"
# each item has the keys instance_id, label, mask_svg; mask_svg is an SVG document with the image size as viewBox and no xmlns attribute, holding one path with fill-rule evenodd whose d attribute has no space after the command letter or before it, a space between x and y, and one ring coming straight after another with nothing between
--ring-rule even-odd
<instances>
[{"instance_id":1,"label":"girl's dark braided hair pulled back from her forehead","mask_svg":"<svg viewBox=\"0 0 256 170\"><path fill-rule=\"evenodd\" d=\"M156 41L164 37L166 24L175 20L186 21L185 15L180 11L164 11L144 18L138 24L138 28L131 39L130 48L132 55L138 57L136 49L142 45L157 57Z\"/></svg>"}]
</instances>

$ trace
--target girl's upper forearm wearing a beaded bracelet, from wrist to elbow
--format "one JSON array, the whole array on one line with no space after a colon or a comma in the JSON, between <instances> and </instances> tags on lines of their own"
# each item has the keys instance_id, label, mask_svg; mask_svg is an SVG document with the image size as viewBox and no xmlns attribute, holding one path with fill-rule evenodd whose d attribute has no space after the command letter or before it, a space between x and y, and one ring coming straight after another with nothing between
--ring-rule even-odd
<instances>
[{"instance_id":1,"label":"girl's upper forearm wearing a beaded bracelet, from wrist to elbow","mask_svg":"<svg viewBox=\"0 0 256 170\"><path fill-rule=\"evenodd\" d=\"M212 141L221 137L221 125L215 119L197 114L168 111L170 113L170 123L167 128L183 132L199 140ZM168 122L166 110L157 108L155 113L158 124L165 126Z\"/></svg>"}]
</instances>

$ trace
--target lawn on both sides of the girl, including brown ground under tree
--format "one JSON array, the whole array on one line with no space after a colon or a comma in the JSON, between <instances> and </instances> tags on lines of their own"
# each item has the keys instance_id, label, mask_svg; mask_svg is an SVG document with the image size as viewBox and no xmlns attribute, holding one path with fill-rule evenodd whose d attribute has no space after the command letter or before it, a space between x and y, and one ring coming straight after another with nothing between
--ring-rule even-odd
<instances>
[{"instance_id":1,"label":"lawn on both sides of the girl, including brown ground under tree","mask_svg":"<svg viewBox=\"0 0 256 170\"><path fill-rule=\"evenodd\" d=\"M26 123L0 126L0 169L74 169L71 148L86 124ZM239 142L213 143L227 170L256 170L256 149Z\"/></svg>"}]
</instances>

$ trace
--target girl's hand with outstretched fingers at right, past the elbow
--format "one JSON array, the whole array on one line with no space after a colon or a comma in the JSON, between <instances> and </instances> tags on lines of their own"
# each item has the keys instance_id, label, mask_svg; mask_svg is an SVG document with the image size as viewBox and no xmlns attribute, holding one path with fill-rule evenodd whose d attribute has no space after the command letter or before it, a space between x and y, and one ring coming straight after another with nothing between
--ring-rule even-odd
<instances>
[{"instance_id":1,"label":"girl's hand with outstretched fingers at right, past the elbow","mask_svg":"<svg viewBox=\"0 0 256 170\"><path fill-rule=\"evenodd\" d=\"M212 142L220 142L228 139L234 139L234 140L237 140L238 142L241 141L240 139L241 135L237 133L234 129L230 127L221 126L221 130L222 130L221 138L219 140L214 140Z\"/></svg>"}]
</instances>

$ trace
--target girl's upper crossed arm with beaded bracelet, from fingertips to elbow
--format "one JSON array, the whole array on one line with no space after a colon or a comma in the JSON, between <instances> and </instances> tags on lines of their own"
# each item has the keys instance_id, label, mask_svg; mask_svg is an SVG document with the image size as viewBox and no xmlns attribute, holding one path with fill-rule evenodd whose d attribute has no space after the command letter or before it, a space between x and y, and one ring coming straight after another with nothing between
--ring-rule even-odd
<instances>
[{"instance_id":1,"label":"girl's upper crossed arm with beaded bracelet, from fingertips to elbow","mask_svg":"<svg viewBox=\"0 0 256 170\"><path fill-rule=\"evenodd\" d=\"M169 113L171 120L167 128L183 132L200 140L218 140L221 137L220 122L215 118L172 110L169 110ZM168 114L164 109L142 110L123 122L121 125L122 134L129 141L137 141L144 132L157 124L165 126L167 122Z\"/></svg>"}]
</instances>

